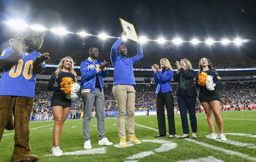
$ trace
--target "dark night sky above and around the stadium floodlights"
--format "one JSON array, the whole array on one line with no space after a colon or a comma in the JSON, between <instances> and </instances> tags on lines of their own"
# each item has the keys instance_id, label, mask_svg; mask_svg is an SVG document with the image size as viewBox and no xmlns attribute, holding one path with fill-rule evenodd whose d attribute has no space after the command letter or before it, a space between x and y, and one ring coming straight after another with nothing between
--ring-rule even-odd
<instances>
[{"instance_id":1,"label":"dark night sky above and around the stadium floodlights","mask_svg":"<svg viewBox=\"0 0 256 162\"><path fill-rule=\"evenodd\" d=\"M111 36L120 36L122 28L119 17L133 23L139 36L150 39L164 36L172 40L177 36L183 40L196 37L205 40L211 37L232 40L239 36L252 39L239 48L221 44L212 48L200 44L196 47L183 43L158 45L150 42L144 45L148 54L236 54L244 53L256 57L256 1L255 0L1 0L0 20L23 19L28 23L43 24L46 28L64 26L72 32L85 30L91 34L106 32ZM0 48L8 45L8 39L14 33L10 27L0 24ZM12 31L12 32L11 32ZM95 37L80 38L67 35L62 38L46 32L44 46L80 49L101 46L110 51L116 39L102 42ZM134 42L126 43L131 50ZM103 46L102 46L103 45ZM63 47L62 47L63 48ZM136 50L136 49L135 49Z\"/></svg>"}]
</instances>

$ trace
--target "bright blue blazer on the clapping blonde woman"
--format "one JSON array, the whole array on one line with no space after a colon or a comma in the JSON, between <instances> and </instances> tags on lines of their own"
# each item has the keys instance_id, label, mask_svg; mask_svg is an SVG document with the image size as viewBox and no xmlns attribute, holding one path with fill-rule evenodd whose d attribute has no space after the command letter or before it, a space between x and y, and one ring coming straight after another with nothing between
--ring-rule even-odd
<instances>
[{"instance_id":1,"label":"bright blue blazer on the clapping blonde woman","mask_svg":"<svg viewBox=\"0 0 256 162\"><path fill-rule=\"evenodd\" d=\"M160 92L160 88L162 93L172 92L171 87L171 80L173 76L172 70L166 70L164 74L162 74L162 71L158 71L156 74L153 74L154 76L154 82L157 85L156 87L156 94Z\"/></svg>"}]
</instances>

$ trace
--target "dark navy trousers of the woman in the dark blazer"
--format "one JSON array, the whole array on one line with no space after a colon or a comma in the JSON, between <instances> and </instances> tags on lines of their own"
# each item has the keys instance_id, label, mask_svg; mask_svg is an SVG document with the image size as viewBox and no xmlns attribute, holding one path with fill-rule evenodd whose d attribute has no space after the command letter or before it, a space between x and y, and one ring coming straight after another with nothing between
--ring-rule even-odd
<instances>
[{"instance_id":1,"label":"dark navy trousers of the woman in the dark blazer","mask_svg":"<svg viewBox=\"0 0 256 162\"><path fill-rule=\"evenodd\" d=\"M187 111L189 114L190 125L192 132L197 132L196 122L196 96L188 96L186 89L180 89L180 94L177 96L177 101L180 109L180 117L184 134L189 134Z\"/></svg>"}]
</instances>

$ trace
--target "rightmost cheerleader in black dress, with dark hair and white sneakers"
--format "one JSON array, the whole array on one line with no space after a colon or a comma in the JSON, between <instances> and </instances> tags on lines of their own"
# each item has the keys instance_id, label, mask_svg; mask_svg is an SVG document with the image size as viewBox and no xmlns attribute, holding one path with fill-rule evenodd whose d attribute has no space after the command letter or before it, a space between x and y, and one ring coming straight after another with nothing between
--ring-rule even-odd
<instances>
[{"instance_id":1,"label":"rightmost cheerleader in black dress, with dark hair and white sneakers","mask_svg":"<svg viewBox=\"0 0 256 162\"><path fill-rule=\"evenodd\" d=\"M212 131L211 139L217 139L218 137L214 129L214 121L212 118L212 112L213 112L216 123L220 130L220 140L226 141L227 139L223 134L224 124L223 124L222 116L220 114L220 96L218 94L218 86L221 85L220 76L218 72L212 67L212 64L208 58L202 58L199 61L199 69L200 71L198 72L198 74L201 72L207 73L208 75L213 77L213 82L216 84L216 87L214 87L214 90L208 90L206 86L201 86L198 84L198 74L196 76L196 87L200 89L199 100L204 107L206 120L208 122L210 130Z\"/></svg>"}]
</instances>

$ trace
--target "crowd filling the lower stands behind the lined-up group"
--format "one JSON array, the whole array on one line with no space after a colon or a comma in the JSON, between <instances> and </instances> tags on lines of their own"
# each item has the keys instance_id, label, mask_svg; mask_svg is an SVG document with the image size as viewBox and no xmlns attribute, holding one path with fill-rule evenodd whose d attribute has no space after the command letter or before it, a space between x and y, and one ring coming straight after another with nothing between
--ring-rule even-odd
<instances>
[{"instance_id":1,"label":"crowd filling the lower stands behind the lined-up group","mask_svg":"<svg viewBox=\"0 0 256 162\"><path fill-rule=\"evenodd\" d=\"M156 108L156 84L136 84L135 108L137 110L147 110ZM176 84L172 84L173 95L176 96ZM222 100L221 110L254 110L256 109L256 82L228 82L219 87L219 94ZM47 90L47 83L37 82L33 112L51 112L50 101L52 91ZM105 109L115 111L118 104L112 94L112 84L104 86ZM175 97L174 97L175 98ZM175 98L174 107L178 110L178 103ZM71 110L77 113L83 110L81 95L72 100ZM199 100L196 103L196 112L204 112ZM76 117L75 117L76 118Z\"/></svg>"}]
</instances>

